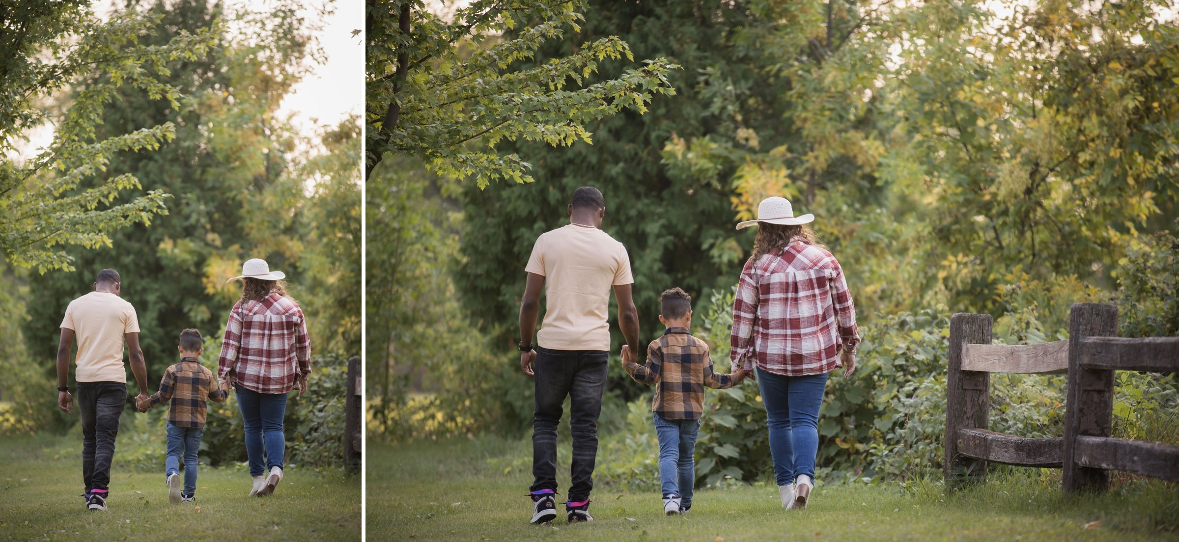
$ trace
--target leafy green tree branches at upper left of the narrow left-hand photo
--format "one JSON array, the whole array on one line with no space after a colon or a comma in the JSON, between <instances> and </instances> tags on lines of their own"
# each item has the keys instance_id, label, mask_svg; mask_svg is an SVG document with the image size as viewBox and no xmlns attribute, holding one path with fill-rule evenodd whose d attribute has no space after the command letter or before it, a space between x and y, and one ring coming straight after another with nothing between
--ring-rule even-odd
<instances>
[{"instance_id":1,"label":"leafy green tree branches at upper left of the narrow left-hand photo","mask_svg":"<svg viewBox=\"0 0 1179 542\"><path fill-rule=\"evenodd\" d=\"M176 125L103 124L104 110L131 90L178 107L169 66L208 54L216 39L209 21L160 40L159 21L159 13L134 9L104 21L81 0L0 6L0 153L14 154L26 130L47 121L55 128L35 157L0 163L0 255L12 264L72 270L65 246L111 246L112 232L167 212L166 192L140 191L134 174L108 170L120 153L159 150ZM50 107L71 85L78 91ZM52 117L57 108L64 113ZM126 199L127 191L140 193Z\"/></svg>"}]
</instances>

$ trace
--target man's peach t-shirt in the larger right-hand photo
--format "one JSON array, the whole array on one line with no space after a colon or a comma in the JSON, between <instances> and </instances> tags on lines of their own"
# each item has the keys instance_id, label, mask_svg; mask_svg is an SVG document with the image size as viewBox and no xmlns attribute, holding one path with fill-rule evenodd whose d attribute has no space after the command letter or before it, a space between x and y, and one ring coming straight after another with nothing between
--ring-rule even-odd
<instances>
[{"instance_id":1,"label":"man's peach t-shirt in the larger right-hand photo","mask_svg":"<svg viewBox=\"0 0 1179 542\"><path fill-rule=\"evenodd\" d=\"M626 247L608 233L569 224L541 233L525 271L545 277L545 320L536 344L610 350L611 286L634 283Z\"/></svg>"}]
</instances>

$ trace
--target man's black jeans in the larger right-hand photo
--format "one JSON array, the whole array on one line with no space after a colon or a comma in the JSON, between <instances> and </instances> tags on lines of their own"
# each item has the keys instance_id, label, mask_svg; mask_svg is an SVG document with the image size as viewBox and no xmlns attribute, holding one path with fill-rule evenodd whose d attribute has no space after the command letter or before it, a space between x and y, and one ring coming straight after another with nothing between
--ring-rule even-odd
<instances>
[{"instance_id":1,"label":"man's black jeans in the larger right-hand photo","mask_svg":"<svg viewBox=\"0 0 1179 542\"><path fill-rule=\"evenodd\" d=\"M598 415L606 389L610 352L604 350L549 350L536 348L536 412L532 419L532 491L556 491L556 425L569 397L573 463L568 501L590 498L598 457Z\"/></svg>"}]
</instances>

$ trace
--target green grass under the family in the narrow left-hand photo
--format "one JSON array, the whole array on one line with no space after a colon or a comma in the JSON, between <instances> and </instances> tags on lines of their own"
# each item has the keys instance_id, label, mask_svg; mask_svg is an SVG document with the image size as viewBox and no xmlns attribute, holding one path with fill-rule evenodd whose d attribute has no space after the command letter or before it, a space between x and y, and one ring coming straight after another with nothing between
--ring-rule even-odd
<instances>
[{"instance_id":1,"label":"green grass under the family in the narrow left-hand photo","mask_svg":"<svg viewBox=\"0 0 1179 542\"><path fill-rule=\"evenodd\" d=\"M244 468L203 465L196 503L169 504L163 457L159 464L120 468L117 448L108 510L92 513L77 496L80 436L0 436L0 541L360 540L358 476L291 468L272 496L258 498L248 496Z\"/></svg>"}]
</instances>

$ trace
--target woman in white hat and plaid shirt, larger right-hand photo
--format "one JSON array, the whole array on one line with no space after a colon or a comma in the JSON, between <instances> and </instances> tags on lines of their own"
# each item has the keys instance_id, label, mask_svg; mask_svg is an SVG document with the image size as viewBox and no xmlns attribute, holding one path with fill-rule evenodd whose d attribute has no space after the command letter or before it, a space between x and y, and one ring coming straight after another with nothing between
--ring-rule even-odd
<instances>
[{"instance_id":1,"label":"woman in white hat and plaid shirt, larger right-hand photo","mask_svg":"<svg viewBox=\"0 0 1179 542\"><path fill-rule=\"evenodd\" d=\"M733 299L730 356L758 382L785 508L806 505L826 374L842 363L850 376L859 343L843 269L804 225L814 219L795 217L789 200L772 197L756 220L737 225L758 231Z\"/></svg>"}]
</instances>

